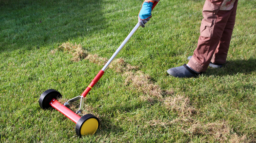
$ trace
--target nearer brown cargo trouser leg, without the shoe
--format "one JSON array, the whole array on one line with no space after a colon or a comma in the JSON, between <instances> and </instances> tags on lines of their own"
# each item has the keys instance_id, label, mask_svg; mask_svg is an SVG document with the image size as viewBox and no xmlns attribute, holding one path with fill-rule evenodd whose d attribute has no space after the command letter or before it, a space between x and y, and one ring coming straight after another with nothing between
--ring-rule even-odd
<instances>
[{"instance_id":1,"label":"nearer brown cargo trouser leg, without the shoe","mask_svg":"<svg viewBox=\"0 0 256 143\"><path fill-rule=\"evenodd\" d=\"M204 18L200 28L201 35L197 48L188 62L188 66L197 72L206 71L232 12L231 10L212 11L211 9L211 7L203 8ZM210 19L211 21L209 21ZM210 22L211 26L209 26Z\"/></svg>"}]
</instances>

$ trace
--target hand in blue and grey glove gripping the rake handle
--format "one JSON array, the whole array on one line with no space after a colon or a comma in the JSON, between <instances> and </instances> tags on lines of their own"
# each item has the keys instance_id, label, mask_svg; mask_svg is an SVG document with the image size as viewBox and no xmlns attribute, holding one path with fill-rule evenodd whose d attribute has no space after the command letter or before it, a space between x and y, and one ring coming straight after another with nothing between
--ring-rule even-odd
<instances>
[{"instance_id":1,"label":"hand in blue and grey glove gripping the rake handle","mask_svg":"<svg viewBox=\"0 0 256 143\"><path fill-rule=\"evenodd\" d=\"M138 15L139 25L141 27L145 27L144 24L146 24L152 17L152 15L151 15L152 6L153 6L153 2L151 2L151 1L143 2L142 7L139 11L139 15Z\"/></svg>"}]
</instances>

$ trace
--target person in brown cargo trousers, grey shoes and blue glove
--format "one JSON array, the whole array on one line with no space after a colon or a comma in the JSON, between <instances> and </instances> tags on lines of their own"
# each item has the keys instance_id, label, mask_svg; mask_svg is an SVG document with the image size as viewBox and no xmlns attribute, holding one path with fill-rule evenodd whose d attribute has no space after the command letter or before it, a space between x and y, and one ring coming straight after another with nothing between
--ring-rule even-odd
<instances>
[{"instance_id":1,"label":"person in brown cargo trousers, grey shoes and blue glove","mask_svg":"<svg viewBox=\"0 0 256 143\"><path fill-rule=\"evenodd\" d=\"M155 0L156 1L156 0ZM154 0L143 2L139 11L139 24L145 24L152 17L151 8ZM168 69L174 77L196 77L208 66L221 68L226 62L229 44L235 25L238 0L206 0L203 6L203 20L200 36L193 56L180 67Z\"/></svg>"}]
</instances>

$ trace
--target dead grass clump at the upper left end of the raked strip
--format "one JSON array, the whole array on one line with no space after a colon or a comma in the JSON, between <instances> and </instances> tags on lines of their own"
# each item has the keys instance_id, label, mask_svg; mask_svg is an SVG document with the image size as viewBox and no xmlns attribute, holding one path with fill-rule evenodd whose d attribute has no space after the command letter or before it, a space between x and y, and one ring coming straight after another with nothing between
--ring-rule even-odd
<instances>
[{"instance_id":1,"label":"dead grass clump at the upper left end of the raked strip","mask_svg":"<svg viewBox=\"0 0 256 143\"><path fill-rule=\"evenodd\" d=\"M83 50L81 44L73 44L70 42L62 43L56 50L67 51L73 56L73 61L80 61L87 56L87 52ZM52 50L52 53L55 53L56 50Z\"/></svg>"}]
</instances>

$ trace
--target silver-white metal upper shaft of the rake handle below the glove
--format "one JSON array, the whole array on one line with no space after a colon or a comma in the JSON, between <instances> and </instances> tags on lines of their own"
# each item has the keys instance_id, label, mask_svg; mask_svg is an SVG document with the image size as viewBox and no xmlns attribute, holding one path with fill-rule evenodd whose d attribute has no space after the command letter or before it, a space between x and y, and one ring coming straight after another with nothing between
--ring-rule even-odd
<instances>
[{"instance_id":1,"label":"silver-white metal upper shaft of the rake handle below the glove","mask_svg":"<svg viewBox=\"0 0 256 143\"><path fill-rule=\"evenodd\" d=\"M102 71L106 71L111 64L111 62L115 59L117 54L121 51L121 49L125 46L125 44L130 40L130 38L133 36L133 34L137 31L139 28L139 23L135 25L133 30L130 32L130 34L125 38L125 40L122 42L122 44L118 47L117 51L111 56L111 58L108 60L108 62L105 64L105 66L101 69Z\"/></svg>"}]
</instances>

